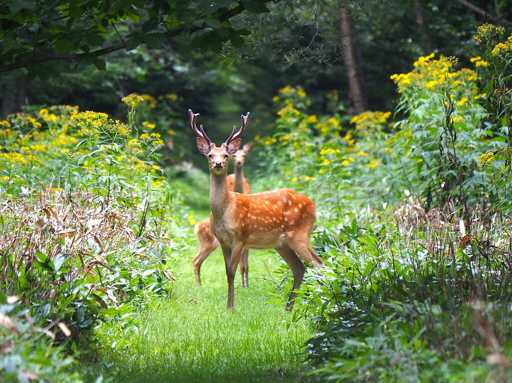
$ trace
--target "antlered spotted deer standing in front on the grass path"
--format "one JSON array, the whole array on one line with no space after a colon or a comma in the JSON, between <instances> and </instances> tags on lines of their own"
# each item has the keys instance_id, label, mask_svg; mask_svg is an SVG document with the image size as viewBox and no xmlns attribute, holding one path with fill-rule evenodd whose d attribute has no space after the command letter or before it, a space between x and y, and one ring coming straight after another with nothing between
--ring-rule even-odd
<instances>
[{"instance_id":1,"label":"antlered spotted deer standing in front on the grass path","mask_svg":"<svg viewBox=\"0 0 512 383\"><path fill-rule=\"evenodd\" d=\"M218 147L206 135L203 125L196 126L199 113L188 110L196 143L208 159L210 172L210 229L219 241L228 283L227 310L234 310L234 276L244 248L275 249L288 264L293 284L285 310L293 308L295 290L304 278L306 264L324 265L311 247L309 236L316 221L316 205L308 197L291 189L267 190L253 194L230 192L227 188L227 163L240 147L250 113L242 115L227 140ZM298 255L297 255L298 254ZM299 256L302 258L299 258Z\"/></svg>"}]
</instances>

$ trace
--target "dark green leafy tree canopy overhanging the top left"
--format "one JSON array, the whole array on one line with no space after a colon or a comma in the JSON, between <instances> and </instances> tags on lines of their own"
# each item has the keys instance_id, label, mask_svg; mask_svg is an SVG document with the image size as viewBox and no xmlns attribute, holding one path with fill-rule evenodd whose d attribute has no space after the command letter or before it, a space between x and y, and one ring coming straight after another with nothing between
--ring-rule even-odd
<instances>
[{"instance_id":1,"label":"dark green leafy tree canopy overhanging the top left","mask_svg":"<svg viewBox=\"0 0 512 383\"><path fill-rule=\"evenodd\" d=\"M276 0L279 1L279 0ZM159 48L186 36L201 51L241 47L249 32L232 18L267 12L270 0L9 0L0 5L0 73L25 68L47 77L55 60L94 64L104 55L141 44Z\"/></svg>"}]
</instances>

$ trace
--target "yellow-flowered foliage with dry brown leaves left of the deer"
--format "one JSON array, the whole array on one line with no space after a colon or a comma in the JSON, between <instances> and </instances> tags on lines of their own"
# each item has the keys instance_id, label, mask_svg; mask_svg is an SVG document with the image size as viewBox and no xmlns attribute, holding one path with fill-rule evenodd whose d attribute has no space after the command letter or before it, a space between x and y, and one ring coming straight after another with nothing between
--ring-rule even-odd
<instances>
[{"instance_id":1,"label":"yellow-flowered foliage with dry brown leaves left of the deer","mask_svg":"<svg viewBox=\"0 0 512 383\"><path fill-rule=\"evenodd\" d=\"M124 347L136 310L170 292L169 250L186 237L160 135L133 113L124 124L69 105L2 125L2 291L75 351L94 339Z\"/></svg>"}]
</instances>

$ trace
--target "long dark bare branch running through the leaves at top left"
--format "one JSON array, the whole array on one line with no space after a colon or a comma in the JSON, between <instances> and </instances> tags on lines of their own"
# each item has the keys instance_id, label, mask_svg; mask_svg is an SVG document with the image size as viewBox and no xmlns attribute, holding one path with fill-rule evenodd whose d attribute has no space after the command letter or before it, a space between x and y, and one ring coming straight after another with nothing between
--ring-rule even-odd
<instances>
[{"instance_id":1,"label":"long dark bare branch running through the leaves at top left","mask_svg":"<svg viewBox=\"0 0 512 383\"><path fill-rule=\"evenodd\" d=\"M261 4L266 4L266 3L269 3L271 1L278 2L280 0L258 0L258 1ZM217 17L217 20L219 20L219 22L221 22L221 23L225 22L225 21L229 20L231 17L236 16L236 15L242 13L244 10L245 10L245 6L243 4L241 4L241 3L239 3L233 9L230 9L229 11L219 15ZM196 27L196 28L190 29L190 33L200 31L200 30L202 30L204 28L206 28L206 27ZM173 29L173 30L167 31L165 33L165 35L166 35L167 38L172 38L172 37L176 37L176 36L182 34L183 32L185 32L185 30L186 30L185 27L180 27L180 28L177 28L177 29ZM144 44L144 40L142 40L141 44ZM16 69L25 68L28 65L38 64L38 63L41 63L41 62L51 61L51 60L72 60L72 61L78 61L78 60L81 60L83 58L99 57L99 56L103 56L105 54L116 52L116 51L118 51L120 49L124 49L124 48L126 48L126 41L121 41L121 42L118 42L117 44L111 45L109 47L101 48L101 49L98 49L98 50L92 51L92 52L84 52L84 53L49 53L49 54L45 54L45 55L41 55L41 56L35 56L35 57L30 58L30 59L14 61L11 64L4 65L4 66L0 67L0 73L10 72L10 71L13 71L13 70L16 70Z\"/></svg>"}]
</instances>

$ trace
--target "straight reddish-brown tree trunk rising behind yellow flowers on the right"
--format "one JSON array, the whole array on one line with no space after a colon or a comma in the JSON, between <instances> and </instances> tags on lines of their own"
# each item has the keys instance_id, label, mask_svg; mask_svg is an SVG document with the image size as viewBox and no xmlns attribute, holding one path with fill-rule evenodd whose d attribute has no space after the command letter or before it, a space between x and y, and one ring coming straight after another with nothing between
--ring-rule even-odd
<instances>
[{"instance_id":1,"label":"straight reddish-brown tree trunk rising behind yellow flowers on the right","mask_svg":"<svg viewBox=\"0 0 512 383\"><path fill-rule=\"evenodd\" d=\"M361 74L357 65L357 57L352 36L352 18L347 5L344 5L339 20L339 28L343 37L344 60L347 66L347 77L349 80L349 99L351 101L351 112L360 114L366 110L366 101L362 93Z\"/></svg>"}]
</instances>

